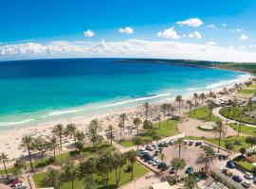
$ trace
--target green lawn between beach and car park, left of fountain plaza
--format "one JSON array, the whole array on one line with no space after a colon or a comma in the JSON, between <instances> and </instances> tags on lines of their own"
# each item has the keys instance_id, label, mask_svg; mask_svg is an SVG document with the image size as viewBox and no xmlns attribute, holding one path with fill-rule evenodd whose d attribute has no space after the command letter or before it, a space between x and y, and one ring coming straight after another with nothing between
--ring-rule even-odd
<instances>
[{"instance_id":1,"label":"green lawn between beach and car park, left of fountain plaza","mask_svg":"<svg viewBox=\"0 0 256 189\"><path fill-rule=\"evenodd\" d=\"M158 127L158 123L156 123L153 125L153 129L140 130L138 137L140 137L144 144L147 144L153 140L150 136L151 131L155 131L161 138L174 136L180 133L177 129L178 123L179 121L170 120L168 124L168 121L165 120L161 122L160 127ZM133 140L121 141L119 145L124 147L134 146Z\"/></svg>"}]
</instances>

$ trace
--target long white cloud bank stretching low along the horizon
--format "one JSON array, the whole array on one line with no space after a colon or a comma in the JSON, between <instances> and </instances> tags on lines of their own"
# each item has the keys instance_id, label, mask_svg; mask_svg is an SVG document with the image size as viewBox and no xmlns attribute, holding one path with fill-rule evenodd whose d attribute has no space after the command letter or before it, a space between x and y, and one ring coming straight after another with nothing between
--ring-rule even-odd
<instances>
[{"instance_id":1,"label":"long white cloud bank stretching low along the horizon","mask_svg":"<svg viewBox=\"0 0 256 189\"><path fill-rule=\"evenodd\" d=\"M256 54L240 47L174 41L130 40L123 42L18 43L0 46L0 60L54 58L162 58L217 61L256 61Z\"/></svg>"}]
</instances>

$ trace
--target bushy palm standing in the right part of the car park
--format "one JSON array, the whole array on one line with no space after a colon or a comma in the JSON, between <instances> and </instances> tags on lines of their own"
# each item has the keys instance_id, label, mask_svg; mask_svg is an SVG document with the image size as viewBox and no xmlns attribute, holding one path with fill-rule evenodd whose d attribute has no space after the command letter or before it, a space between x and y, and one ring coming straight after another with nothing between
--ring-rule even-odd
<instances>
[{"instance_id":1,"label":"bushy palm standing in the right part of the car park","mask_svg":"<svg viewBox=\"0 0 256 189\"><path fill-rule=\"evenodd\" d=\"M205 163L205 170L208 169L208 164L214 159L214 149L211 146L203 146L201 153L198 155L197 160Z\"/></svg>"}]
</instances>

